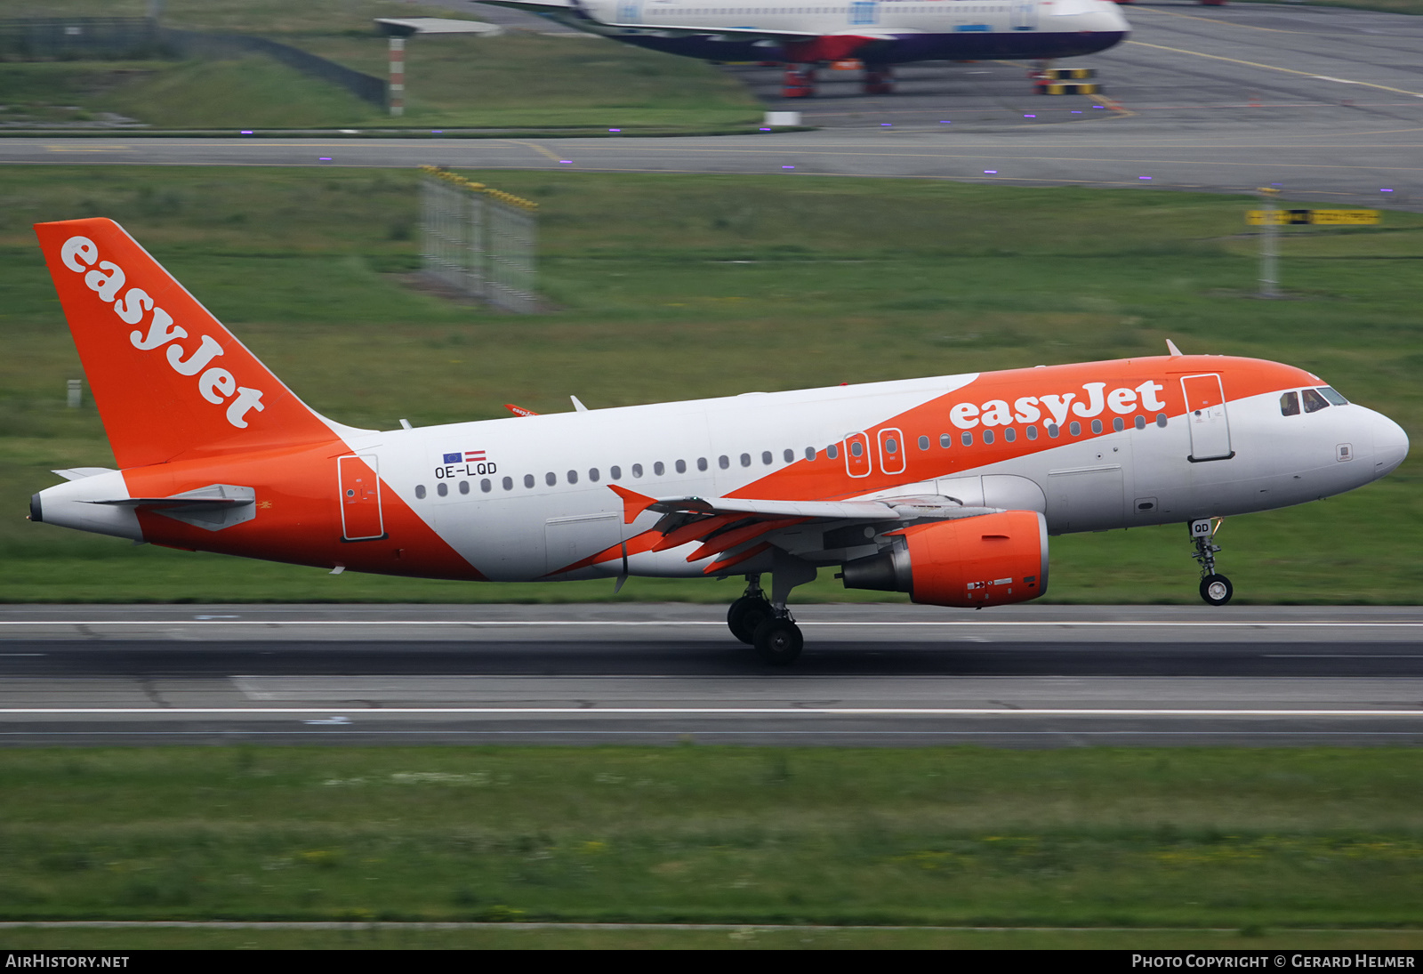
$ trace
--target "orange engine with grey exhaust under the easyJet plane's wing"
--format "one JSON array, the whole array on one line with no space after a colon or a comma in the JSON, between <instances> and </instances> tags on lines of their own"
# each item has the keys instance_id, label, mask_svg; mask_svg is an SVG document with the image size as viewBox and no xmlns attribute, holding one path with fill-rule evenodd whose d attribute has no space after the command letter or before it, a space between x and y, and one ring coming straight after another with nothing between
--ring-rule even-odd
<instances>
[{"instance_id":1,"label":"orange engine with grey exhaust under the easyJet plane's wing","mask_svg":"<svg viewBox=\"0 0 1423 974\"><path fill-rule=\"evenodd\" d=\"M909 592L924 605L1009 605L1047 591L1047 521L1002 511L889 531L888 551L845 562L845 588Z\"/></svg>"}]
</instances>

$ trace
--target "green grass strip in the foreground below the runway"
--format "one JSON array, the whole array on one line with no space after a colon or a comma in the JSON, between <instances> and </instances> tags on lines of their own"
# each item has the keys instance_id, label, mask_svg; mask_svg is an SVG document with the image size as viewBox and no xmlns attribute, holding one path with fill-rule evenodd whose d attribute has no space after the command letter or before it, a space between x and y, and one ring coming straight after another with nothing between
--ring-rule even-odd
<instances>
[{"instance_id":1,"label":"green grass strip in the foreground below the runway","mask_svg":"<svg viewBox=\"0 0 1423 974\"><path fill-rule=\"evenodd\" d=\"M11 749L0 916L1416 937L1420 762L1393 749Z\"/></svg>"}]
</instances>

